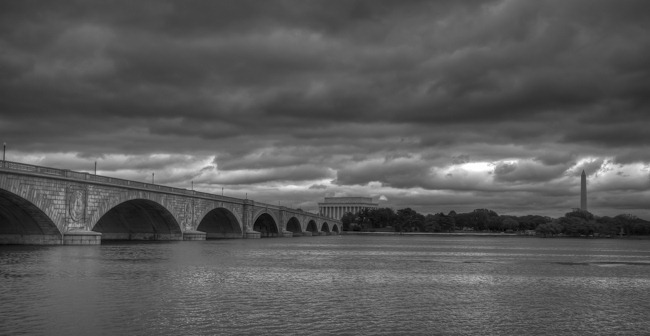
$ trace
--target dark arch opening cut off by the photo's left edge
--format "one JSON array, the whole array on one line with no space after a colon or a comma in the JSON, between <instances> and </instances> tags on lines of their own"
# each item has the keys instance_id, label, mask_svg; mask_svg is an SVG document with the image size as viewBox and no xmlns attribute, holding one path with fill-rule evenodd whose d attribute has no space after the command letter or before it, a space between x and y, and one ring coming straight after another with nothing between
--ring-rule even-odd
<instances>
[{"instance_id":1,"label":"dark arch opening cut off by the photo's left edge","mask_svg":"<svg viewBox=\"0 0 650 336\"><path fill-rule=\"evenodd\" d=\"M0 189L0 244L61 244L54 221L34 203Z\"/></svg>"}]
</instances>

